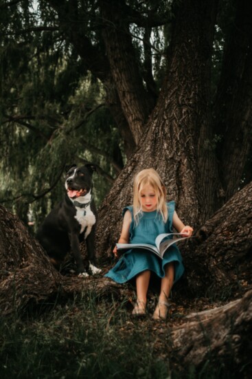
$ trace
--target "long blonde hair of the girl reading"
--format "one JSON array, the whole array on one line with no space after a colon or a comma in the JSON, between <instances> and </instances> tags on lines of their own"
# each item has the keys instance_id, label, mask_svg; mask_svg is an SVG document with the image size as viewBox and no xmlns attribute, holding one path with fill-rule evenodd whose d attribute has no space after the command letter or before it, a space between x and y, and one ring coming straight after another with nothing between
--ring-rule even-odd
<instances>
[{"instance_id":1,"label":"long blonde hair of the girl reading","mask_svg":"<svg viewBox=\"0 0 252 379\"><path fill-rule=\"evenodd\" d=\"M133 216L135 224L139 223L139 215L142 214L140 202L140 193L144 186L152 186L154 193L157 195L157 212L161 214L163 222L168 219L168 210L165 202L166 189L163 182L154 169L145 169L140 171L134 178L133 185Z\"/></svg>"}]
</instances>

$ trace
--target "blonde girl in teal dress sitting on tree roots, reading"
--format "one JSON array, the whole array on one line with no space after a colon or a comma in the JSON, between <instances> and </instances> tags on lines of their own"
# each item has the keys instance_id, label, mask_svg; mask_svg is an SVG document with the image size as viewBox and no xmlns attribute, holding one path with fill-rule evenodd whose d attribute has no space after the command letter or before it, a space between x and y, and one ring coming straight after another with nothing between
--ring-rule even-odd
<instances>
[{"instance_id":1,"label":"blonde girl in teal dress sitting on tree roots, reading","mask_svg":"<svg viewBox=\"0 0 252 379\"><path fill-rule=\"evenodd\" d=\"M154 169L139 172L134 180L133 206L126 206L123 210L124 222L118 242L154 245L157 235L172 232L173 227L185 237L191 236L193 229L183 224L174 210L174 202L165 203L165 197L165 187ZM116 247L113 252L117 256ZM172 245L165 252L163 260L146 250L128 250L105 276L117 283L135 278L137 302L133 315L143 316L146 314L150 275L154 272L161 278L161 290L152 318L165 320L170 306L170 290L183 271L181 253Z\"/></svg>"}]
</instances>

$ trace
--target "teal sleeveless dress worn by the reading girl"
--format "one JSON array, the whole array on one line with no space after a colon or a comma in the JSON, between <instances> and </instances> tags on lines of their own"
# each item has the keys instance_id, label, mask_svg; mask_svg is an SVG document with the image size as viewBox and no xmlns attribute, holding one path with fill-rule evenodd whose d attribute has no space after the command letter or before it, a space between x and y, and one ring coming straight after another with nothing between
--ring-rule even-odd
<instances>
[{"instance_id":1,"label":"teal sleeveless dress worn by the reading girl","mask_svg":"<svg viewBox=\"0 0 252 379\"><path fill-rule=\"evenodd\" d=\"M129 243L151 243L157 235L161 233L172 232L172 217L174 214L175 203L168 202L168 220L163 223L161 215L154 210L153 212L143 212L140 216L139 224L135 226L133 219L133 206L126 206L126 210L130 210L132 221L130 224ZM113 279L117 283L126 283L137 274L145 270L154 272L159 278L165 276L165 265L174 262L174 283L179 280L184 272L181 252L175 244L170 246L168 251L163 255L163 260L159 259L154 253L140 249L127 250L124 255L117 261L115 266L111 268L104 276Z\"/></svg>"}]
</instances>

